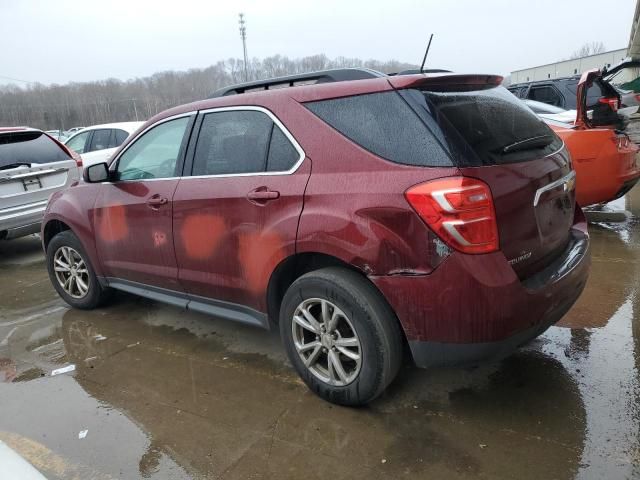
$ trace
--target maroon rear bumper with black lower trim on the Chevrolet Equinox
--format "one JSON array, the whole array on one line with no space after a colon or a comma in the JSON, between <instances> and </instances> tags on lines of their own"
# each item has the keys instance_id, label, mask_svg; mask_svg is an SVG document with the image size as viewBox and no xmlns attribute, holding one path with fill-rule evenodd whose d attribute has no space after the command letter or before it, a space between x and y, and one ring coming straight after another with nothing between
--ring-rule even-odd
<instances>
[{"instance_id":1,"label":"maroon rear bumper with black lower trim on the Chevrolet Equinox","mask_svg":"<svg viewBox=\"0 0 640 480\"><path fill-rule=\"evenodd\" d=\"M521 281L500 252L453 253L430 275L371 277L395 310L418 366L504 357L558 322L589 275L586 223L562 255Z\"/></svg>"}]
</instances>

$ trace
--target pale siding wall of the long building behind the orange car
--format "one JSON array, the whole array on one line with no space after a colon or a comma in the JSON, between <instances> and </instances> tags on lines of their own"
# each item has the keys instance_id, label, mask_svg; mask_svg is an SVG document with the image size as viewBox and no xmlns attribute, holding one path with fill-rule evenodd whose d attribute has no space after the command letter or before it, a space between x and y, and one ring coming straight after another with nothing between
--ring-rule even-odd
<instances>
[{"instance_id":1,"label":"pale siding wall of the long building behind the orange car","mask_svg":"<svg viewBox=\"0 0 640 480\"><path fill-rule=\"evenodd\" d=\"M627 56L627 49L613 50L611 52L590 55L588 57L565 60L563 62L550 63L539 67L527 68L511 72L511 83L520 83L534 80L546 80L548 78L570 77L581 74L593 68L602 68L605 65L616 65ZM636 75L634 76L634 73ZM615 77L614 83L624 83L636 78L637 72L624 69Z\"/></svg>"}]
</instances>

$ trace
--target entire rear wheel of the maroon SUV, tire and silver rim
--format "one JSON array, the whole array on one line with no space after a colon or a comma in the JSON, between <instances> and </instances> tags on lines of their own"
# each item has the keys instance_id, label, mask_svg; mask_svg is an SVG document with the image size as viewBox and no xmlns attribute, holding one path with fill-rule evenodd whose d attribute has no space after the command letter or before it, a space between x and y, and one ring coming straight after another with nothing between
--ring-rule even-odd
<instances>
[{"instance_id":1,"label":"entire rear wheel of the maroon SUV, tire and silver rim","mask_svg":"<svg viewBox=\"0 0 640 480\"><path fill-rule=\"evenodd\" d=\"M282 301L280 334L307 386L340 405L371 402L402 361L393 310L366 278L344 268L324 268L293 282Z\"/></svg>"}]
</instances>

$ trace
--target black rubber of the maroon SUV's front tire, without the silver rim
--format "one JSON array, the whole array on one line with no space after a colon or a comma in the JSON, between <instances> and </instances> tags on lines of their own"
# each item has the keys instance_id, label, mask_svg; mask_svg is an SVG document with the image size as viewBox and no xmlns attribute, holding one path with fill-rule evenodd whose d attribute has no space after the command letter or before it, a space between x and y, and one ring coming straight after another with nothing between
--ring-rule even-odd
<instances>
[{"instance_id":1,"label":"black rubber of the maroon SUV's front tire, without the silver rim","mask_svg":"<svg viewBox=\"0 0 640 480\"><path fill-rule=\"evenodd\" d=\"M88 289L86 294L81 298L76 298L67 293L59 283L56 276L56 272L54 270L55 255L62 247L70 247L75 250L86 265ZM89 261L89 256L82 247L82 243L80 243L78 237L76 237L76 235L70 230L58 233L49 242L49 245L47 246L47 270L49 271L49 279L51 280L53 287L58 292L58 295L60 295L65 302L74 308L91 310L104 304L111 296L111 291L108 288L102 287L98 282L93 266Z\"/></svg>"}]
</instances>

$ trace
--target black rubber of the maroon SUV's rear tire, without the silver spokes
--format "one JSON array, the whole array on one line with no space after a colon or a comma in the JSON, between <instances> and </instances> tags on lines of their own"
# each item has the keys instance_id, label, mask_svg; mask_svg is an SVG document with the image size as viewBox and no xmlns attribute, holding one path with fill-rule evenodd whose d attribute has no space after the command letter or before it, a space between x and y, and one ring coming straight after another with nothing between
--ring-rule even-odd
<instances>
[{"instance_id":1,"label":"black rubber of the maroon SUV's rear tire, without the silver spokes","mask_svg":"<svg viewBox=\"0 0 640 480\"><path fill-rule=\"evenodd\" d=\"M329 307L330 311L335 311L333 307L340 309L348 317L347 328L352 327L350 330L354 331L359 339L358 351L361 355L361 364L359 369L355 366L351 369L354 379L348 384L330 384L318 378L317 373L314 374L305 366L298 353L293 330L302 327L299 324L294 325L293 317L296 312L300 312L297 309L304 305L305 301L314 302L311 299L330 302L333 305ZM348 406L367 404L384 391L400 369L402 333L395 313L385 298L365 277L351 270L339 267L323 268L298 278L284 296L279 323L287 356L294 368L312 391L329 402ZM305 335L311 336L310 343L322 344L323 352L328 352L329 348L334 351L339 348L324 348L326 333L313 339L314 333L304 329L299 331L304 331ZM301 344L299 334L298 344ZM320 365L319 368L324 368L323 358L326 359L325 363L329 368L329 354L330 352L318 354L317 358L321 360L316 362L316 365ZM344 356L342 358L350 362L349 358ZM317 366L315 368L318 369ZM337 372L335 367L333 368L334 372ZM334 381L330 377L328 379L329 382Z\"/></svg>"}]
</instances>

